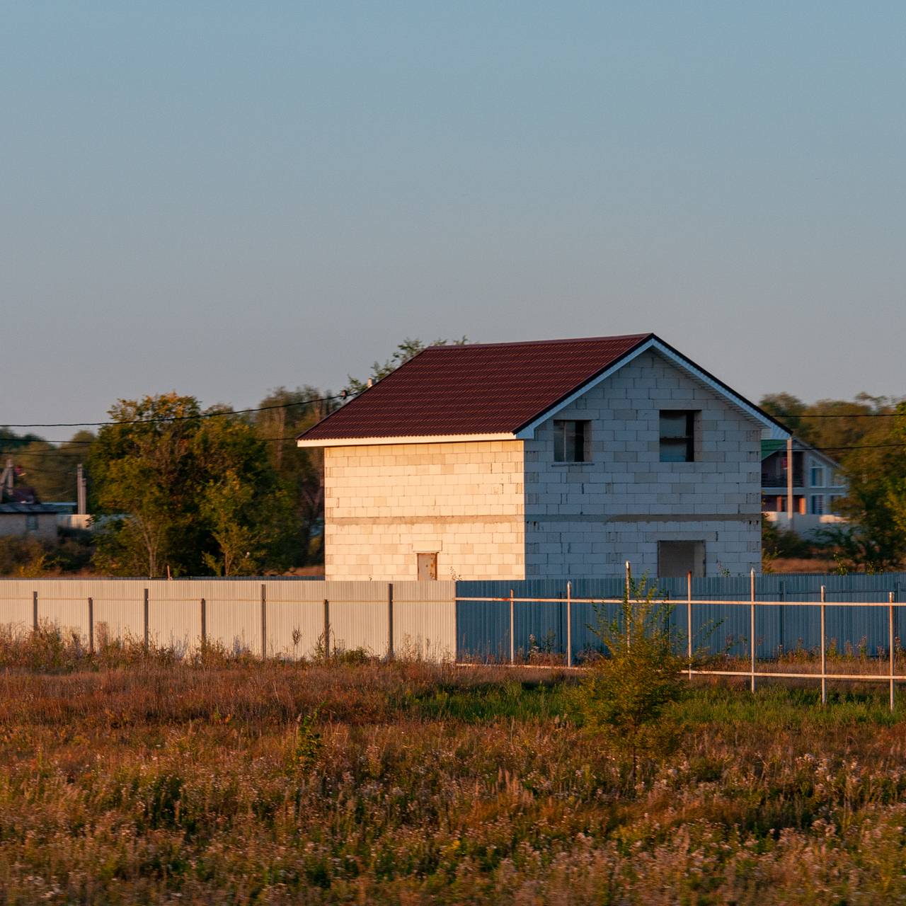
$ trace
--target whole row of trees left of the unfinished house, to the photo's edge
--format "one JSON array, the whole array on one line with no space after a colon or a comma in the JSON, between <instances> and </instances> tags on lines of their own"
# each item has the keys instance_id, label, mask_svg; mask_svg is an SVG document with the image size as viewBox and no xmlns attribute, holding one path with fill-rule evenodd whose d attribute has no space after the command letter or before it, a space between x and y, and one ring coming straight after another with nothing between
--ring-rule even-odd
<instances>
[{"instance_id":1,"label":"whole row of trees left of the unfinished house, to the photo's edge","mask_svg":"<svg viewBox=\"0 0 906 906\"><path fill-rule=\"evenodd\" d=\"M72 500L84 465L102 573L282 573L323 557L321 451L294 437L328 414L331 396L278 388L261 411L234 414L166 393L119 400L96 434L59 446L9 431L0 442L43 501Z\"/></svg>"}]
</instances>

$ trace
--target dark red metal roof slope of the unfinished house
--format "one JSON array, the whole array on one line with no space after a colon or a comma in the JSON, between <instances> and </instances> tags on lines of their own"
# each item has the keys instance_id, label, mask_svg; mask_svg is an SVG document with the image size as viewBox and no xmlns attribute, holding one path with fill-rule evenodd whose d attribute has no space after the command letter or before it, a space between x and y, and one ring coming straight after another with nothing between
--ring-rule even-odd
<instances>
[{"instance_id":1,"label":"dark red metal roof slope of the unfinished house","mask_svg":"<svg viewBox=\"0 0 906 906\"><path fill-rule=\"evenodd\" d=\"M299 439L516 432L651 336L429 346Z\"/></svg>"}]
</instances>

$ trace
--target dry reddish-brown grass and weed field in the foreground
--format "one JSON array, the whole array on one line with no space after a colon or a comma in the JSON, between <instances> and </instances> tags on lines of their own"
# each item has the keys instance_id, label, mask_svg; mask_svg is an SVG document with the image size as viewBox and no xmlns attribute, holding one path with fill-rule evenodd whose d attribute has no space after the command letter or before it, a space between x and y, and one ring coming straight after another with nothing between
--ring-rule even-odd
<instances>
[{"instance_id":1,"label":"dry reddish-brown grass and weed field in the foreground","mask_svg":"<svg viewBox=\"0 0 906 906\"><path fill-rule=\"evenodd\" d=\"M5 902L906 902L883 691L699 687L633 787L552 671L44 642L0 648Z\"/></svg>"}]
</instances>

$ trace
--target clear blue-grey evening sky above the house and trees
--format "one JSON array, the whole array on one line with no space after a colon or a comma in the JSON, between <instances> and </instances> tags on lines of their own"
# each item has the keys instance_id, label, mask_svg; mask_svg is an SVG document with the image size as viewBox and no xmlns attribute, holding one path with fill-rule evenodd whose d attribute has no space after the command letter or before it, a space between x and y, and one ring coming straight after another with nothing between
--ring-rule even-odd
<instances>
[{"instance_id":1,"label":"clear blue-grey evening sky above the house and trees","mask_svg":"<svg viewBox=\"0 0 906 906\"><path fill-rule=\"evenodd\" d=\"M0 424L338 388L407 335L906 394L902 3L0 12Z\"/></svg>"}]
</instances>

